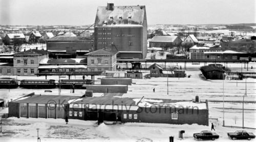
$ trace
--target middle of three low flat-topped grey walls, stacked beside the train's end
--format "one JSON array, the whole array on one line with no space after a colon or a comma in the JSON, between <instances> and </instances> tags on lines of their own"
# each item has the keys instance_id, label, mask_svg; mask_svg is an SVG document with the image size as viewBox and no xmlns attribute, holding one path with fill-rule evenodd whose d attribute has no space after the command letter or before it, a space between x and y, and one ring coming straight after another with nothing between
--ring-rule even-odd
<instances>
[{"instance_id":1,"label":"middle of three low flat-topped grey walls, stacked beside the train's end","mask_svg":"<svg viewBox=\"0 0 256 142\"><path fill-rule=\"evenodd\" d=\"M101 85L132 85L131 78L102 78Z\"/></svg>"}]
</instances>

